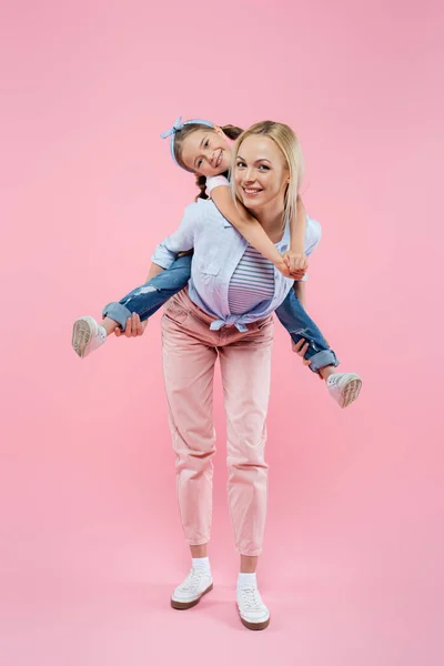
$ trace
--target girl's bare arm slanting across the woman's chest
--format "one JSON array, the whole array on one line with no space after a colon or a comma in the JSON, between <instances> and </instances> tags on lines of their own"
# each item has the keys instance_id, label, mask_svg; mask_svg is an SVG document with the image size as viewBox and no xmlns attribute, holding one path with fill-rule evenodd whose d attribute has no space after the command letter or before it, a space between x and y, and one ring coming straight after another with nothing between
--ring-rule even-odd
<instances>
[{"instance_id":1,"label":"girl's bare arm slanting across the woman's chest","mask_svg":"<svg viewBox=\"0 0 444 666\"><path fill-rule=\"evenodd\" d=\"M211 199L222 215L231 222L250 245L269 259L282 273L289 275L282 254L276 250L258 220L250 215L241 203L239 205L234 203L228 181L226 185L218 185L211 191Z\"/></svg>"}]
</instances>

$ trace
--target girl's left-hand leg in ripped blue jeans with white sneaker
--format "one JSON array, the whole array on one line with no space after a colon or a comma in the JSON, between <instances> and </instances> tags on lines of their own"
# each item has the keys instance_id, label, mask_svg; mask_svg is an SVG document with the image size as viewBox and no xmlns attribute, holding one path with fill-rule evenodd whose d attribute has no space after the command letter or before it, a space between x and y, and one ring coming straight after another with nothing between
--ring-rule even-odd
<instances>
[{"instance_id":1,"label":"girl's left-hand leg in ripped blue jeans with white sneaker","mask_svg":"<svg viewBox=\"0 0 444 666\"><path fill-rule=\"evenodd\" d=\"M72 346L75 353L84 359L102 346L117 326L120 326L121 331L125 330L127 320L134 312L139 314L141 321L148 320L171 296L186 286L190 280L191 260L190 254L179 256L168 271L134 289L121 301L109 303L103 309L103 319L100 323L91 316L78 319L72 332Z\"/></svg>"}]
</instances>

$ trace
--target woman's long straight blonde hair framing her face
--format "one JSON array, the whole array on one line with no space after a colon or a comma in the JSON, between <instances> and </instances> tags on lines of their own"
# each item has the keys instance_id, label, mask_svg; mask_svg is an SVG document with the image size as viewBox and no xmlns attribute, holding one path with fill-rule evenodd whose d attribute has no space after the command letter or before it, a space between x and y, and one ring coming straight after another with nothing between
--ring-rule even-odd
<instances>
[{"instance_id":1,"label":"woman's long straight blonde hair framing her face","mask_svg":"<svg viewBox=\"0 0 444 666\"><path fill-rule=\"evenodd\" d=\"M273 122L272 120L256 122L239 137L233 147L231 161L231 188L233 196L236 199L235 179L233 175L239 150L245 139L252 135L270 137L270 139L274 141L285 158L286 165L290 171L290 180L285 190L284 214L286 220L292 220L296 213L299 188L301 185L304 171L304 158L296 134L289 125L282 122Z\"/></svg>"}]
</instances>

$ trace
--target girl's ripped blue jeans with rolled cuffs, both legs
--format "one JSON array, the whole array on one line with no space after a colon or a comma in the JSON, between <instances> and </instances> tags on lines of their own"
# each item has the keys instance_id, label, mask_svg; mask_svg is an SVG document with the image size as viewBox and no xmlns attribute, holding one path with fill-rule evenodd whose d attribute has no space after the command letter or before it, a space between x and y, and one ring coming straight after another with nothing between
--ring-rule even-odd
<instances>
[{"instance_id":1,"label":"girl's ripped blue jeans with rolled cuffs, both legs","mask_svg":"<svg viewBox=\"0 0 444 666\"><path fill-rule=\"evenodd\" d=\"M127 319L133 312L139 314L142 322L149 319L171 296L186 286L191 274L191 261L192 254L178 256L168 271L162 271L147 284L134 289L119 303L109 303L103 309L103 316L114 320L122 331L125 330ZM339 364L335 353L329 347L316 324L306 314L293 289L276 309L276 315L294 343L302 339L309 343L305 359L311 360L310 370L319 372L326 365Z\"/></svg>"}]
</instances>

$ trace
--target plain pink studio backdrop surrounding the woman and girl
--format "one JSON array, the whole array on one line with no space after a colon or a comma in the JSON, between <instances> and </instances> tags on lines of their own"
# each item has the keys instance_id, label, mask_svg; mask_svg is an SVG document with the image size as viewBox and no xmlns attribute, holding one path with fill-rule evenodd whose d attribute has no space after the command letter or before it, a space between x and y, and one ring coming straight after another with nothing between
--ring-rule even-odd
<instances>
[{"instance_id":1,"label":"plain pink studio backdrop surrounding the woman and girl","mask_svg":"<svg viewBox=\"0 0 444 666\"><path fill-rule=\"evenodd\" d=\"M151 4L0 3L1 663L442 664L443 6ZM174 613L159 315L70 347L194 196L159 139L179 114L299 132L310 311L365 382L341 412L276 326L259 635L233 604L219 384L215 589Z\"/></svg>"}]
</instances>

